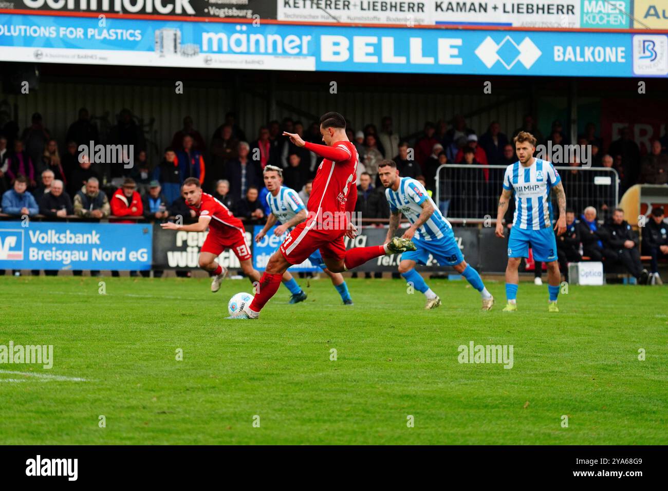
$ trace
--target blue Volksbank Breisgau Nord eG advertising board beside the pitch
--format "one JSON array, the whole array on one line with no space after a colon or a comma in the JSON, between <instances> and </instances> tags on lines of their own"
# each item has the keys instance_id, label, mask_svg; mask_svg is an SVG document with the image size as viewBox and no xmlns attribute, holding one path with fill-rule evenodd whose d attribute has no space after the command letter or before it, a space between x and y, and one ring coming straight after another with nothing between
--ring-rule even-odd
<instances>
[{"instance_id":1,"label":"blue Volksbank Breisgau Nord eG advertising board beside the pitch","mask_svg":"<svg viewBox=\"0 0 668 491\"><path fill-rule=\"evenodd\" d=\"M0 222L0 269L148 270L151 241L147 224Z\"/></svg>"}]
</instances>

